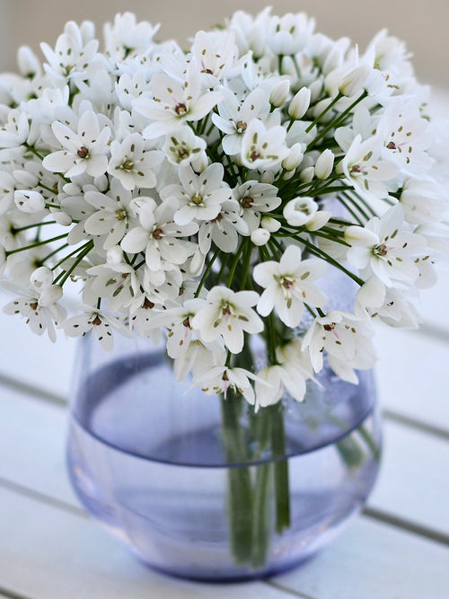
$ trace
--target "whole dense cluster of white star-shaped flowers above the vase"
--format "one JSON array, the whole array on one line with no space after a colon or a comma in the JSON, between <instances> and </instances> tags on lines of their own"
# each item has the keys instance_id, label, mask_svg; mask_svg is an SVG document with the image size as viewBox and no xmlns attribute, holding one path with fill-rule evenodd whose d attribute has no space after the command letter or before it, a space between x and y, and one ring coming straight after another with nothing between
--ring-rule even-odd
<instances>
[{"instance_id":1,"label":"whole dense cluster of white star-shaped flowers above the vase","mask_svg":"<svg viewBox=\"0 0 449 599\"><path fill-rule=\"evenodd\" d=\"M448 206L428 90L399 40L363 55L304 13L238 12L188 51L118 14L99 51L68 22L42 65L0 76L4 308L55 339L166 339L180 380L256 409L304 398L323 357L374 364L374 317L416 326ZM438 131L441 137L441 130ZM358 286L352 312L321 281ZM79 313L59 304L83 282ZM266 347L257 372L251 339Z\"/></svg>"}]
</instances>

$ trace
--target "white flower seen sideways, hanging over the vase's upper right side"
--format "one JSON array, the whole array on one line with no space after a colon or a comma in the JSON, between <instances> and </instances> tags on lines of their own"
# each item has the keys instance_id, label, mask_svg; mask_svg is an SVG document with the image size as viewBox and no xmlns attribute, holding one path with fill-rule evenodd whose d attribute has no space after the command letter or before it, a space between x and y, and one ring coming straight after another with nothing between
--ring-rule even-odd
<instances>
[{"instance_id":1,"label":"white flower seen sideways, hanging over the vase's upper right side","mask_svg":"<svg viewBox=\"0 0 449 599\"><path fill-rule=\"evenodd\" d=\"M314 319L304 336L303 350L308 349L315 373L321 371L325 351L330 368L344 381L357 384L354 370L374 366L373 335L365 318L331 310Z\"/></svg>"}]
</instances>

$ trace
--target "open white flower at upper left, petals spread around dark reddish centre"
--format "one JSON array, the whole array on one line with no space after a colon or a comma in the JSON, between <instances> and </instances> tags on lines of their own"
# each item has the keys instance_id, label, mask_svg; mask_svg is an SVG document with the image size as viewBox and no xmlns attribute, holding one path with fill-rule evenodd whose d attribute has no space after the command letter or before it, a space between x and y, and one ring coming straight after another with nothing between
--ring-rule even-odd
<instances>
[{"instance_id":1,"label":"open white flower at upper left, petals spread around dark reddish centre","mask_svg":"<svg viewBox=\"0 0 449 599\"><path fill-rule=\"evenodd\" d=\"M65 148L48 154L42 165L50 172L63 172L75 177L86 172L98 177L108 166L110 128L101 127L93 110L85 110L78 123L78 132L58 121L52 125L57 141Z\"/></svg>"}]
</instances>

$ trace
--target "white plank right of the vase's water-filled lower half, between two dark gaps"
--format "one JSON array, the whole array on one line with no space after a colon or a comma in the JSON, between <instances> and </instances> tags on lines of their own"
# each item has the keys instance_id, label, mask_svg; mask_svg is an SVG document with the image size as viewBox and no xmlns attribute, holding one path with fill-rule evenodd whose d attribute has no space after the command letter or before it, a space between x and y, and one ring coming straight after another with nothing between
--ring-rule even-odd
<instances>
[{"instance_id":1,"label":"white plank right of the vase's water-filled lower half, between two dark gaps","mask_svg":"<svg viewBox=\"0 0 449 599\"><path fill-rule=\"evenodd\" d=\"M383 434L382 468L368 506L449 538L449 442L392 422L383 423Z\"/></svg>"}]
</instances>

